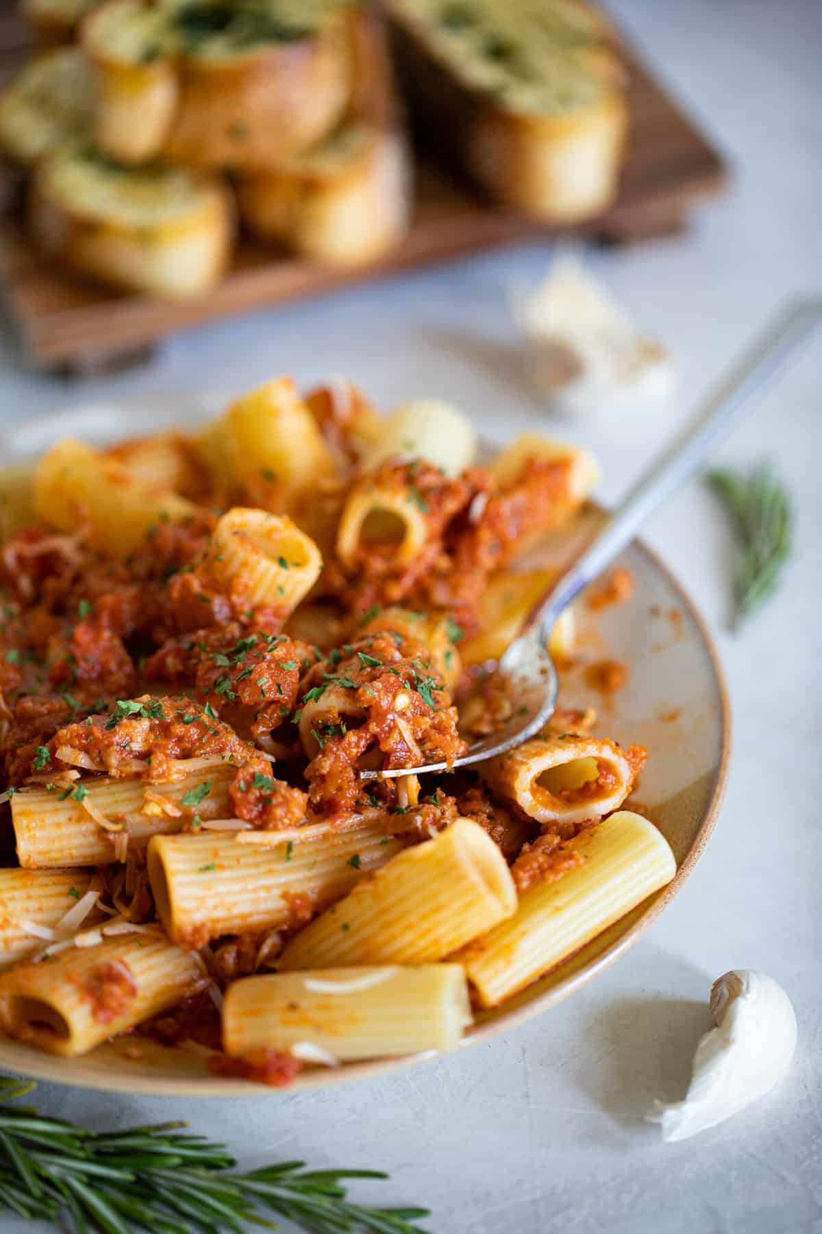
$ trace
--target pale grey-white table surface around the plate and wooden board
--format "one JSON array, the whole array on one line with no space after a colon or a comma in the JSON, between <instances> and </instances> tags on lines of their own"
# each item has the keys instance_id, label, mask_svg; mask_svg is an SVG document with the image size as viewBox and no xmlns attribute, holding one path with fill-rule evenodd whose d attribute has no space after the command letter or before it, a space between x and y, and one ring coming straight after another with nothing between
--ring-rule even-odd
<instances>
[{"instance_id":1,"label":"pale grey-white table surface around the plate and wooden board","mask_svg":"<svg viewBox=\"0 0 822 1234\"><path fill-rule=\"evenodd\" d=\"M732 194L686 237L594 258L638 318L675 347L689 399L783 294L822 289L822 4L615 7L736 164ZM524 247L256 313L177 337L149 368L85 385L26 373L0 329L1 416L152 390L242 387L283 370L303 381L338 371L383 405L425 392L452 399L504 439L543 422L523 381L505 297L511 284L539 276L548 252ZM822 1232L821 364L817 343L722 450L735 463L771 459L799 511L783 591L743 637L723 629L730 543L704 489L690 485L648 531L718 631L736 740L725 810L701 864L627 956L521 1030L397 1079L230 1104L43 1086L43 1109L95 1127L189 1117L246 1165L306 1157L378 1166L392 1181L372 1193L428 1204L439 1234ZM688 399L664 416L579 431L603 458L606 499L672 433ZM737 966L771 974L794 1000L792 1071L748 1113L664 1145L642 1116L653 1097L683 1093L707 1027L710 983Z\"/></svg>"}]
</instances>

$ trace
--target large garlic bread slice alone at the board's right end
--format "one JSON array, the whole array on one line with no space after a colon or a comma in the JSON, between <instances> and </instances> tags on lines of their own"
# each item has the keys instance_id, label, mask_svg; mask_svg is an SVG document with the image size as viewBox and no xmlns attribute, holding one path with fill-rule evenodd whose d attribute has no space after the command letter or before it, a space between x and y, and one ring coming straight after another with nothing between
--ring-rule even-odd
<instances>
[{"instance_id":1,"label":"large garlic bread slice alone at the board's right end","mask_svg":"<svg viewBox=\"0 0 822 1234\"><path fill-rule=\"evenodd\" d=\"M492 196L573 223L611 201L627 107L604 17L582 0L387 0L426 131Z\"/></svg>"}]
</instances>

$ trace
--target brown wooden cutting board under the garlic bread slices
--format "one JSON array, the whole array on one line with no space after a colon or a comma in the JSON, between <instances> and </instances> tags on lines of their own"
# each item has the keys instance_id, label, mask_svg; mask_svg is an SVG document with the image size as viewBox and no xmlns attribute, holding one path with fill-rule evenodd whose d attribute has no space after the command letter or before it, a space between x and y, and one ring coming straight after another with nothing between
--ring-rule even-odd
<instances>
[{"instance_id":1,"label":"brown wooden cutting board under the garlic bread slices","mask_svg":"<svg viewBox=\"0 0 822 1234\"><path fill-rule=\"evenodd\" d=\"M21 27L9 5L0 5L0 80L23 53ZM694 207L726 181L720 154L636 57L630 72L631 132L617 200L599 218L572 230L600 242L680 231ZM0 216L0 292L32 360L80 374L143 354L173 331L197 322L551 232L483 200L420 154L410 232L367 269L332 270L243 239L218 288L200 300L173 304L107 291L63 274L35 252L20 213L6 209Z\"/></svg>"}]
</instances>

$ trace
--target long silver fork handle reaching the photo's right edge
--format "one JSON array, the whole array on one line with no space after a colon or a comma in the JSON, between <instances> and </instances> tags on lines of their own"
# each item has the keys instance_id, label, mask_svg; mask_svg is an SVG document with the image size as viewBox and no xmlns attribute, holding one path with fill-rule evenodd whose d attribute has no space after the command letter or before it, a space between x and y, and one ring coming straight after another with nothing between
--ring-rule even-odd
<instances>
[{"instance_id":1,"label":"long silver fork handle reaching the photo's right edge","mask_svg":"<svg viewBox=\"0 0 822 1234\"><path fill-rule=\"evenodd\" d=\"M546 644L572 600L631 543L638 528L696 470L751 401L786 368L822 321L822 299L791 300L707 396L693 423L636 481L596 537L536 610L531 628Z\"/></svg>"}]
</instances>

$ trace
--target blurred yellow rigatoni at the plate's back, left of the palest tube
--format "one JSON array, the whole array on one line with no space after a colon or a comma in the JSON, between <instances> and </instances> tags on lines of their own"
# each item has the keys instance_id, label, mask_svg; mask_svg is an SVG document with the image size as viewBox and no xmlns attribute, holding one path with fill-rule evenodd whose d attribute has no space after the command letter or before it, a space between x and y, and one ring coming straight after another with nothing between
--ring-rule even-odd
<instances>
[{"instance_id":1,"label":"blurred yellow rigatoni at the plate's back, left of the palest tube","mask_svg":"<svg viewBox=\"0 0 822 1234\"><path fill-rule=\"evenodd\" d=\"M335 475L317 421L288 378L269 381L223 416L234 481L255 503L291 511L295 501Z\"/></svg>"}]
</instances>

